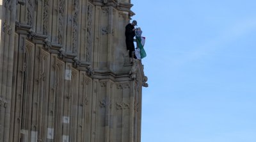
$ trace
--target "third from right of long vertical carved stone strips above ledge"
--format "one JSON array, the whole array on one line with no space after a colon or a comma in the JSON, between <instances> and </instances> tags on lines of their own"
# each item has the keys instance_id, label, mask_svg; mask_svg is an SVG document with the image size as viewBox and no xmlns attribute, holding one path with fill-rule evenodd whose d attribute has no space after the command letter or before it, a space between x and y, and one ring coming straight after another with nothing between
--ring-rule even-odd
<instances>
[{"instance_id":1,"label":"third from right of long vertical carved stone strips above ledge","mask_svg":"<svg viewBox=\"0 0 256 142\"><path fill-rule=\"evenodd\" d=\"M63 19L64 19L64 8L65 8L65 0L59 0L59 9L58 9L58 43L62 43L63 36Z\"/></svg>"}]
</instances>

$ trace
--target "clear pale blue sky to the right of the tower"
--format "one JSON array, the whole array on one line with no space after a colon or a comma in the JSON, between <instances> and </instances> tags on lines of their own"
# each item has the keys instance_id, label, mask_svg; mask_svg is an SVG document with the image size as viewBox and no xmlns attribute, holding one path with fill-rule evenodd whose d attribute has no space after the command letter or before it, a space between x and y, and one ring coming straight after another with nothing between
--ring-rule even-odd
<instances>
[{"instance_id":1,"label":"clear pale blue sky to the right of the tower","mask_svg":"<svg viewBox=\"0 0 256 142\"><path fill-rule=\"evenodd\" d=\"M142 142L256 142L256 1L132 0Z\"/></svg>"}]
</instances>

